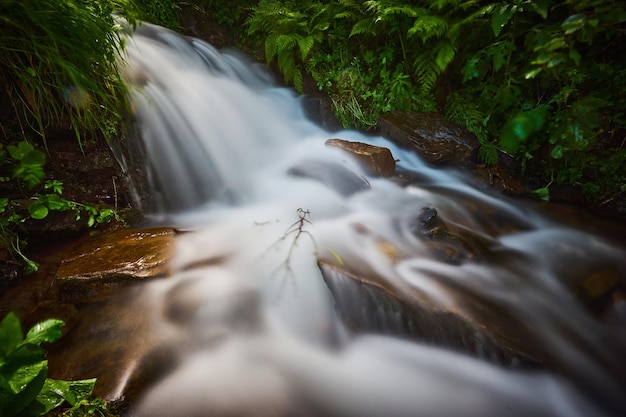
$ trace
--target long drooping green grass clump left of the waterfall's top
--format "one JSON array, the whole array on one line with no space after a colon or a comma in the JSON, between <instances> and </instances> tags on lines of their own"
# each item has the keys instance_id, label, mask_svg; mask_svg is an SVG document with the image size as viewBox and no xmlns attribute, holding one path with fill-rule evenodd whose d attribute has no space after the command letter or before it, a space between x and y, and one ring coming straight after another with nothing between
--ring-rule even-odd
<instances>
[{"instance_id":1,"label":"long drooping green grass clump left of the waterfall's top","mask_svg":"<svg viewBox=\"0 0 626 417\"><path fill-rule=\"evenodd\" d=\"M111 132L127 114L118 74L121 32L113 11L130 0L4 0L0 86L24 134L48 126Z\"/></svg>"}]
</instances>

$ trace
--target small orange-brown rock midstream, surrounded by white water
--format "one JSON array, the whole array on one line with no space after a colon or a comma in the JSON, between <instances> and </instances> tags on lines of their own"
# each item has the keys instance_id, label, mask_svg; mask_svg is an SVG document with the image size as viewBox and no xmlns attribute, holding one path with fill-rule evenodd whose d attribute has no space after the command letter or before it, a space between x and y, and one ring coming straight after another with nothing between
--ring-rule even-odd
<instances>
[{"instance_id":1,"label":"small orange-brown rock midstream, surrounded by white water","mask_svg":"<svg viewBox=\"0 0 626 417\"><path fill-rule=\"evenodd\" d=\"M326 145L349 152L370 174L393 177L396 173L396 161L387 148L343 139L328 139Z\"/></svg>"}]
</instances>

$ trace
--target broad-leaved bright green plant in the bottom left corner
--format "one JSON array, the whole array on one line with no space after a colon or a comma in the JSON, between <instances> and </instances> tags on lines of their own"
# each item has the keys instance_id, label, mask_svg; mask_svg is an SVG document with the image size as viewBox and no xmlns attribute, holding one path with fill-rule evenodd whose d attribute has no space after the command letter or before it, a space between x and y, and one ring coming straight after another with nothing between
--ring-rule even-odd
<instances>
[{"instance_id":1,"label":"broad-leaved bright green plant in the bottom left corner","mask_svg":"<svg viewBox=\"0 0 626 417\"><path fill-rule=\"evenodd\" d=\"M2 416L42 416L68 403L88 401L95 379L59 381L47 378L48 361L41 345L61 337L61 320L34 325L26 335L11 312L0 322L0 413Z\"/></svg>"}]
</instances>

